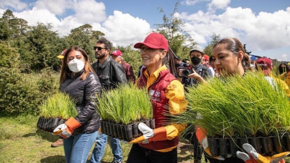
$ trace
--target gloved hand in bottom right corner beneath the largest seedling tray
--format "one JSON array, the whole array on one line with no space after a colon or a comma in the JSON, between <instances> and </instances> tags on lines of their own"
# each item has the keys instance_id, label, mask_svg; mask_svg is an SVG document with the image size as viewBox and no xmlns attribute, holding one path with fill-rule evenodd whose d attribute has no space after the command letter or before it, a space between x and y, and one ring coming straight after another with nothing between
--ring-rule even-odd
<instances>
[{"instance_id":1,"label":"gloved hand in bottom right corner beneath the largest seedling tray","mask_svg":"<svg viewBox=\"0 0 290 163\"><path fill-rule=\"evenodd\" d=\"M283 158L290 154L290 152L283 152L273 155L272 157L262 156L248 143L243 144L243 149L245 149L248 154L237 151L237 157L246 163L285 163Z\"/></svg>"}]
</instances>

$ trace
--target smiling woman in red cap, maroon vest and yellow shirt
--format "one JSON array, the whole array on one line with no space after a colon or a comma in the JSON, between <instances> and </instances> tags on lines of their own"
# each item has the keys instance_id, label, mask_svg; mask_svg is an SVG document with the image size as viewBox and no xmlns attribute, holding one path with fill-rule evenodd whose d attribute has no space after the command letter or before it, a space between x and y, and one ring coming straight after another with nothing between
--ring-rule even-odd
<instances>
[{"instance_id":1,"label":"smiling woman in red cap, maroon vest and yellow shirt","mask_svg":"<svg viewBox=\"0 0 290 163\"><path fill-rule=\"evenodd\" d=\"M138 88L146 87L153 105L153 118L156 129L150 129L144 123L138 125L143 133L130 143L134 143L127 163L135 162L177 162L179 133L186 124L165 125L166 113L179 114L185 111L183 85L174 77L174 59L168 53L168 41L162 34L149 34L143 43L134 48L141 50L143 72L137 79ZM166 67L169 65L169 69Z\"/></svg>"}]
</instances>

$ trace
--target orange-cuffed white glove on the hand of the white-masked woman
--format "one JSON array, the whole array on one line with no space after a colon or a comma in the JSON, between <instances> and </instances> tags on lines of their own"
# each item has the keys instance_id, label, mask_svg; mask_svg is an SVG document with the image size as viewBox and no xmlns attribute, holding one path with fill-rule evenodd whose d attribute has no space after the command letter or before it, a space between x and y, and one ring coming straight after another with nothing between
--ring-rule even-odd
<instances>
[{"instance_id":1,"label":"orange-cuffed white glove on the hand of the white-masked woman","mask_svg":"<svg viewBox=\"0 0 290 163\"><path fill-rule=\"evenodd\" d=\"M69 136L72 135L73 131L78 128L79 126L81 126L81 124L74 119L73 117L70 117L66 123L63 123L59 126L57 126L54 130L53 130L53 135L60 135L61 137L67 139L69 138Z\"/></svg>"}]
</instances>

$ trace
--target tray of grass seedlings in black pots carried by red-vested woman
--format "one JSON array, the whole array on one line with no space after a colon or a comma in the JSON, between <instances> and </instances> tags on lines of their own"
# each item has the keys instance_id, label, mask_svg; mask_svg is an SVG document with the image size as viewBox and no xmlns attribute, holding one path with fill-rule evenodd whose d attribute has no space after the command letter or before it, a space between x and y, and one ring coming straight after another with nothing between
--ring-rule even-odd
<instances>
[{"instance_id":1,"label":"tray of grass seedlings in black pots carried by red-vested woman","mask_svg":"<svg viewBox=\"0 0 290 163\"><path fill-rule=\"evenodd\" d=\"M97 112L101 117L101 132L125 141L141 136L140 122L155 129L152 104L148 91L133 84L119 85L97 95Z\"/></svg>"}]
</instances>

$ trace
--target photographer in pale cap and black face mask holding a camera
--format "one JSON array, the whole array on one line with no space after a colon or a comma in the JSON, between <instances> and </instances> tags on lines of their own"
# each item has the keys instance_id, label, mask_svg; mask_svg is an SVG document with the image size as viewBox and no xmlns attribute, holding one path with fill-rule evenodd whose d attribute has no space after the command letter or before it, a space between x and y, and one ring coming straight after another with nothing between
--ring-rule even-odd
<instances>
[{"instance_id":1,"label":"photographer in pale cap and black face mask holding a camera","mask_svg":"<svg viewBox=\"0 0 290 163\"><path fill-rule=\"evenodd\" d=\"M179 77L181 83L186 87L197 86L198 83L206 82L205 79L213 76L207 66L201 64L201 58L204 56L203 49L199 45L195 45L189 52L192 62L191 64L185 63L179 67ZM188 139L194 146L194 163L201 163L202 150L196 138L195 132L185 134L185 139Z\"/></svg>"}]
</instances>

